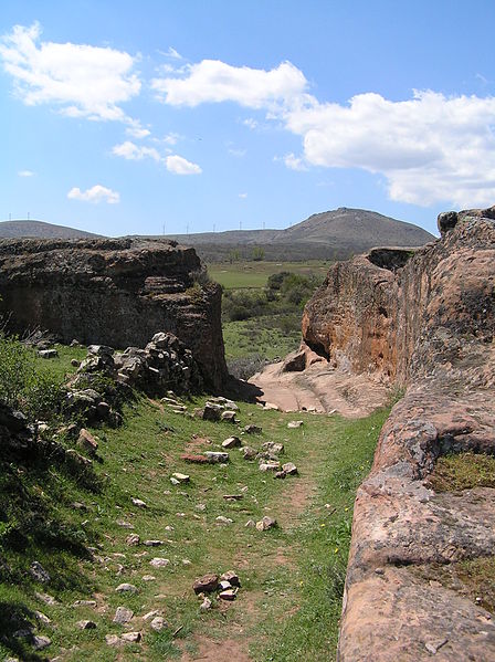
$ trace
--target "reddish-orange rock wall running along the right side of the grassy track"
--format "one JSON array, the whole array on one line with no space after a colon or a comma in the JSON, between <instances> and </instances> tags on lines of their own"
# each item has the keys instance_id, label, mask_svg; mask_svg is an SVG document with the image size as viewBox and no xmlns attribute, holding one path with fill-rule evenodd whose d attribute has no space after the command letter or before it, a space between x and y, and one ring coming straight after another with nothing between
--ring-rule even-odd
<instances>
[{"instance_id":1,"label":"reddish-orange rock wall running along the right side of the grassy track","mask_svg":"<svg viewBox=\"0 0 495 662\"><path fill-rule=\"evenodd\" d=\"M305 343L337 369L406 389L356 498L341 662L495 659L492 614L445 580L493 555L495 490L429 482L445 454L495 454L495 208L439 230L336 264L304 313Z\"/></svg>"}]
</instances>

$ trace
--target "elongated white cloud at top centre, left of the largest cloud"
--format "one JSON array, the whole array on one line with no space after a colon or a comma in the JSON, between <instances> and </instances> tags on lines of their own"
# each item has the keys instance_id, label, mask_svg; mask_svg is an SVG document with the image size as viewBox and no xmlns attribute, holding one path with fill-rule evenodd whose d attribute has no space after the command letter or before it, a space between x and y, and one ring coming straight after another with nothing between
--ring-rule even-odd
<instances>
[{"instance_id":1,"label":"elongated white cloud at top centre, left of the largest cloud","mask_svg":"<svg viewBox=\"0 0 495 662\"><path fill-rule=\"evenodd\" d=\"M186 77L155 78L151 87L172 106L230 101L250 108L263 108L287 103L294 96L301 96L307 86L303 73L291 62L265 71L203 60L188 65L186 74Z\"/></svg>"}]
</instances>

